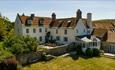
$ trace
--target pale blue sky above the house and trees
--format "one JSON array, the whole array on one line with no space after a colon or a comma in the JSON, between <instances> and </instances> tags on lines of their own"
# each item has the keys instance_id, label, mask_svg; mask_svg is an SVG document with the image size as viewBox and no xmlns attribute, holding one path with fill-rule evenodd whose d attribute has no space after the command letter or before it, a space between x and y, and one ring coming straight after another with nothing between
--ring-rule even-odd
<instances>
[{"instance_id":1,"label":"pale blue sky above the house and trees","mask_svg":"<svg viewBox=\"0 0 115 70\"><path fill-rule=\"evenodd\" d=\"M17 13L51 17L55 12L57 18L75 17L78 9L83 18L92 13L93 20L115 19L114 0L0 0L1 14L11 21L15 21Z\"/></svg>"}]
</instances>

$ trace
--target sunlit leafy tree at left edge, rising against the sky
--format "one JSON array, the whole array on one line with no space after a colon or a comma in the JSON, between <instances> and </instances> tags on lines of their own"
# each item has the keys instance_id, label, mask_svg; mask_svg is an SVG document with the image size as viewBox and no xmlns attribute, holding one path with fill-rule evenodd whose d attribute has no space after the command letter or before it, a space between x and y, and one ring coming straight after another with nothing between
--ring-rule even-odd
<instances>
[{"instance_id":1,"label":"sunlit leafy tree at left edge, rising against the sky","mask_svg":"<svg viewBox=\"0 0 115 70\"><path fill-rule=\"evenodd\" d=\"M14 22L10 22L8 18L0 17L0 41L13 33Z\"/></svg>"}]
</instances>

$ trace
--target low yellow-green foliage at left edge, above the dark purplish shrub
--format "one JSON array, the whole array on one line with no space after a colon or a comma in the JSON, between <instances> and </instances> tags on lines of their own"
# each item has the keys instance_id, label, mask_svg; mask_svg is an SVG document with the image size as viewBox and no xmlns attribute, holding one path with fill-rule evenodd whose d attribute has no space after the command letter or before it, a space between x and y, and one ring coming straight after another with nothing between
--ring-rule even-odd
<instances>
[{"instance_id":1,"label":"low yellow-green foliage at left edge, above the dark purplish shrub","mask_svg":"<svg viewBox=\"0 0 115 70\"><path fill-rule=\"evenodd\" d=\"M11 52L3 49L2 44L3 44L3 42L0 42L0 61L3 60L4 58L12 56Z\"/></svg>"}]
</instances>

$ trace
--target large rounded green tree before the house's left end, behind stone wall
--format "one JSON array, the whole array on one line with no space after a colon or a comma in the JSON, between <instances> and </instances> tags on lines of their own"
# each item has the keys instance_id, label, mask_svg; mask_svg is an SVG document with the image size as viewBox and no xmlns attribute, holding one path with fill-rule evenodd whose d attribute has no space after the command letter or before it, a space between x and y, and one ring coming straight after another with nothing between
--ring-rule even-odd
<instances>
[{"instance_id":1,"label":"large rounded green tree before the house's left end, behind stone wall","mask_svg":"<svg viewBox=\"0 0 115 70\"><path fill-rule=\"evenodd\" d=\"M35 52L37 50L37 46L37 39L30 36L13 35L4 40L4 48L8 49L15 55Z\"/></svg>"}]
</instances>

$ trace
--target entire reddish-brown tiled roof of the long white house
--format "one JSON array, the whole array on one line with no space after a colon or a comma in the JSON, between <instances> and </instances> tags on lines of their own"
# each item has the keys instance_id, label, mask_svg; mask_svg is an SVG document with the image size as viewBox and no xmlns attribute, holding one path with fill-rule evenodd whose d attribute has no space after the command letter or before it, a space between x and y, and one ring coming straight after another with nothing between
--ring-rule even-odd
<instances>
[{"instance_id":1,"label":"entire reddish-brown tiled roof of the long white house","mask_svg":"<svg viewBox=\"0 0 115 70\"><path fill-rule=\"evenodd\" d=\"M19 16L22 24L26 24L27 20L30 19L29 16ZM75 27L78 20L76 17L72 18L63 18L63 19L56 19L52 21L49 17L34 17L32 19L32 25L38 25L39 21L43 19L44 25L49 25L50 27ZM85 26L87 26L87 19L82 19Z\"/></svg>"}]
</instances>

